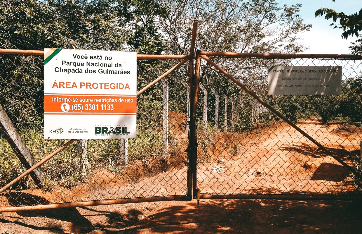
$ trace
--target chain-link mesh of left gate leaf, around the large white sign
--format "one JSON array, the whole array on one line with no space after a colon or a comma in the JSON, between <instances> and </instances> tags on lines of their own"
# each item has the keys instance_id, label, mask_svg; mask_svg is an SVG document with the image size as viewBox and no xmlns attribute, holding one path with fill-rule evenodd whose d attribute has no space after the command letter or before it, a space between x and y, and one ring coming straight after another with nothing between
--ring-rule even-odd
<instances>
[{"instance_id":1,"label":"chain-link mesh of left gate leaf, around the large white sign","mask_svg":"<svg viewBox=\"0 0 362 234\"><path fill-rule=\"evenodd\" d=\"M138 61L138 90L178 62ZM43 67L43 57L0 56L1 106L36 161L68 141L44 139ZM187 74L181 66L167 85L156 83L137 97L135 139L77 140L2 193L0 207L185 196L187 89L180 80ZM0 138L0 187L30 167L7 138Z\"/></svg>"}]
</instances>

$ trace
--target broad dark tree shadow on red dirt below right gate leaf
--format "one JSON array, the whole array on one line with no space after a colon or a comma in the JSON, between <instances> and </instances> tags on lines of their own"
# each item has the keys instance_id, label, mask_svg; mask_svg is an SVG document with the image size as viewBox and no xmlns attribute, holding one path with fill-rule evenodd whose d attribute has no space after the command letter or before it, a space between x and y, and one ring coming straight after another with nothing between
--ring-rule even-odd
<instances>
[{"instance_id":1,"label":"broad dark tree shadow on red dirt below right gate leaf","mask_svg":"<svg viewBox=\"0 0 362 234\"><path fill-rule=\"evenodd\" d=\"M172 204L172 203L170 203ZM201 200L140 213L106 215L109 234L361 233L361 201Z\"/></svg>"}]
</instances>

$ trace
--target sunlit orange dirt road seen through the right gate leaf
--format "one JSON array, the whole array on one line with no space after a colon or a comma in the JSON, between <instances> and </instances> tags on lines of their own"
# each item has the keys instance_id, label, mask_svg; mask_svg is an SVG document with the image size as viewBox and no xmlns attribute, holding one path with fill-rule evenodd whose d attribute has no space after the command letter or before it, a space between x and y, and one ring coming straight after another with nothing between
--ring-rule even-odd
<instances>
[{"instance_id":1,"label":"sunlit orange dirt road seen through the right gate leaf","mask_svg":"<svg viewBox=\"0 0 362 234\"><path fill-rule=\"evenodd\" d=\"M334 149L353 149L361 139L360 131L349 139L334 134L337 125L326 128L307 120L297 126ZM336 194L355 189L338 161L290 126L279 126L261 138L250 140L235 156L224 154L199 165L201 193Z\"/></svg>"}]
</instances>

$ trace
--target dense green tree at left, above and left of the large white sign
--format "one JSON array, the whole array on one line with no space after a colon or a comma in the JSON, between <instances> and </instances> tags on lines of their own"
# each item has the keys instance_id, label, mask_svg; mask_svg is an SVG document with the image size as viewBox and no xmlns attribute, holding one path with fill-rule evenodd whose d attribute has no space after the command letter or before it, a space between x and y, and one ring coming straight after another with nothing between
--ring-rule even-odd
<instances>
[{"instance_id":1,"label":"dense green tree at left, above and left of the large white sign","mask_svg":"<svg viewBox=\"0 0 362 234\"><path fill-rule=\"evenodd\" d=\"M167 16L167 8L157 1L0 0L0 5L0 48L71 48L74 41L82 49L164 50L155 17ZM41 64L38 57L0 56L0 102L16 123L43 114Z\"/></svg>"}]
</instances>

